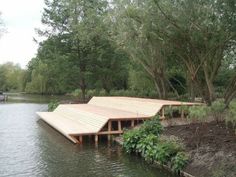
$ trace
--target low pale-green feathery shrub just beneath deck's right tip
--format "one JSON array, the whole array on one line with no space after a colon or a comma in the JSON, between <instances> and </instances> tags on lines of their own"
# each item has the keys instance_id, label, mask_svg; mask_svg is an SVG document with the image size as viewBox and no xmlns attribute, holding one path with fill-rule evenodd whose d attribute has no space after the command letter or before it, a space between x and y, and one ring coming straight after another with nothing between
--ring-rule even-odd
<instances>
[{"instance_id":1,"label":"low pale-green feathery shrub just beneath deck's right tip","mask_svg":"<svg viewBox=\"0 0 236 177\"><path fill-rule=\"evenodd\" d=\"M209 115L209 107L206 105L192 106L189 108L188 119L204 122Z\"/></svg>"}]
</instances>

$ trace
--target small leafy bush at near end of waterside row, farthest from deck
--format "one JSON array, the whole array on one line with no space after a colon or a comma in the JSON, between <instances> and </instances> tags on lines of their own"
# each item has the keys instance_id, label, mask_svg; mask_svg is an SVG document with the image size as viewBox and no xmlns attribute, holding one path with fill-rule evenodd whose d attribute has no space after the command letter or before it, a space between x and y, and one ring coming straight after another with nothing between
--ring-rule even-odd
<instances>
[{"instance_id":1,"label":"small leafy bush at near end of waterside row, farthest from deck","mask_svg":"<svg viewBox=\"0 0 236 177\"><path fill-rule=\"evenodd\" d=\"M188 163L189 157L185 152L178 152L176 156L171 159L171 167L179 173Z\"/></svg>"}]
</instances>

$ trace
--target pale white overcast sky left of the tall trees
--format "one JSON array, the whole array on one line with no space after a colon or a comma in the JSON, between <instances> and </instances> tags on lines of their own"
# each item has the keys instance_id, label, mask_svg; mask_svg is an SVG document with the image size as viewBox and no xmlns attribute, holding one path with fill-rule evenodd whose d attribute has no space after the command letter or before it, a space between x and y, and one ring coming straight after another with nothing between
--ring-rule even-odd
<instances>
[{"instance_id":1,"label":"pale white overcast sky left of the tall trees","mask_svg":"<svg viewBox=\"0 0 236 177\"><path fill-rule=\"evenodd\" d=\"M40 28L44 0L0 0L5 31L0 37L0 64L11 61L25 68L37 52L33 41Z\"/></svg>"}]
</instances>

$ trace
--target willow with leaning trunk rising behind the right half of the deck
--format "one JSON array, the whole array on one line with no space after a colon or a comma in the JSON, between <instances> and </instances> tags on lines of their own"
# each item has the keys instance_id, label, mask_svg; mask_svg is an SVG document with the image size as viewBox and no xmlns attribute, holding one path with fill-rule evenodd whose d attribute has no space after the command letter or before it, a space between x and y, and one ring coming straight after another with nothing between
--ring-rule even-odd
<instances>
[{"instance_id":1,"label":"willow with leaning trunk rising behind the right half of the deck","mask_svg":"<svg viewBox=\"0 0 236 177\"><path fill-rule=\"evenodd\" d=\"M115 40L144 68L154 82L159 98L166 98L168 89L175 89L167 77L168 44L159 32L166 24L153 8L153 1L114 1L112 7Z\"/></svg>"}]
</instances>

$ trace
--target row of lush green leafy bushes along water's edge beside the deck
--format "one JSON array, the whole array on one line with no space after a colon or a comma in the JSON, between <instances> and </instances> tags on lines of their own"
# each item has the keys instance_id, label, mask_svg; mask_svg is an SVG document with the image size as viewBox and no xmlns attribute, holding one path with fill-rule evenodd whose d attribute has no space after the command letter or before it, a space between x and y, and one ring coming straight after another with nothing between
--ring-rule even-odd
<instances>
[{"instance_id":1,"label":"row of lush green leafy bushes along water's edge beside the deck","mask_svg":"<svg viewBox=\"0 0 236 177\"><path fill-rule=\"evenodd\" d=\"M184 146L176 138L160 136L163 127L159 117L145 121L139 129L126 131L123 134L123 148L126 152L140 154L149 162L157 161L169 165L174 171L183 169L188 157L184 153Z\"/></svg>"}]
</instances>

